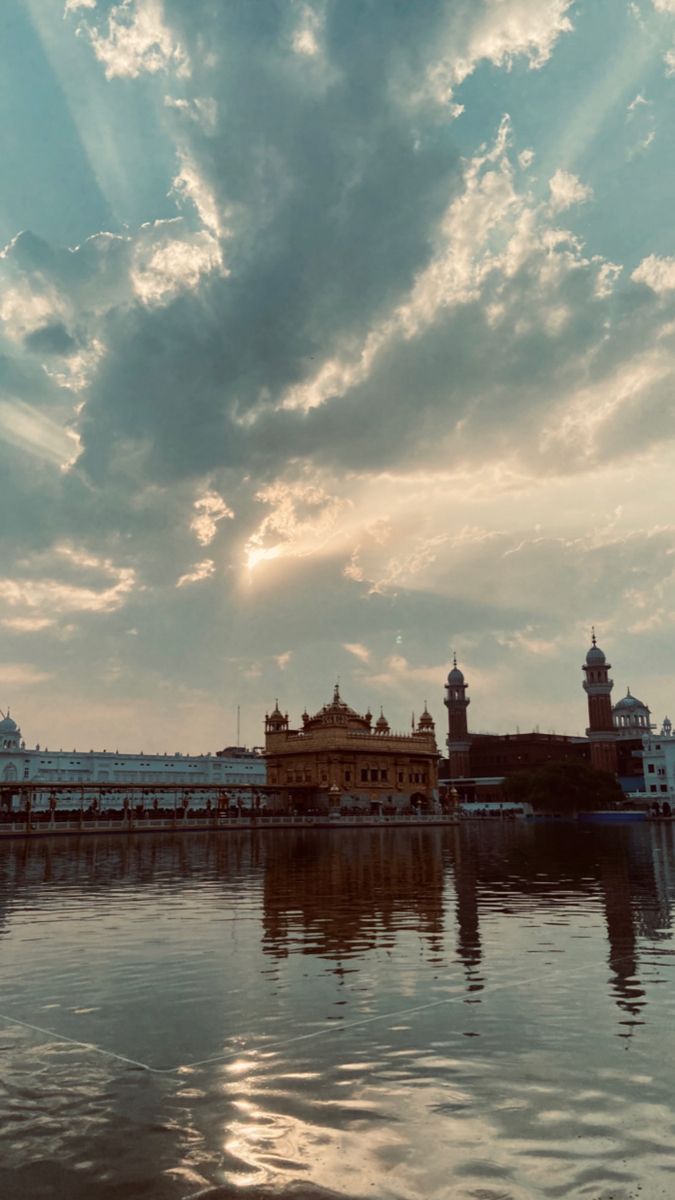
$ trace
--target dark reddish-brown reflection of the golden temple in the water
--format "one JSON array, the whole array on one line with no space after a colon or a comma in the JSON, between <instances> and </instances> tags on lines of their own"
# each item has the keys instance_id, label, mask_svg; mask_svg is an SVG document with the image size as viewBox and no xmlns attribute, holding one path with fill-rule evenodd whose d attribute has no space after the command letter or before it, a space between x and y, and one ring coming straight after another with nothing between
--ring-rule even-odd
<instances>
[{"instance_id":1,"label":"dark reddish-brown reflection of the golden temple in the water","mask_svg":"<svg viewBox=\"0 0 675 1200\"><path fill-rule=\"evenodd\" d=\"M338 840L339 839L339 840ZM434 829L307 830L280 838L264 878L264 949L291 948L344 961L396 931L442 946L442 840Z\"/></svg>"}]
</instances>

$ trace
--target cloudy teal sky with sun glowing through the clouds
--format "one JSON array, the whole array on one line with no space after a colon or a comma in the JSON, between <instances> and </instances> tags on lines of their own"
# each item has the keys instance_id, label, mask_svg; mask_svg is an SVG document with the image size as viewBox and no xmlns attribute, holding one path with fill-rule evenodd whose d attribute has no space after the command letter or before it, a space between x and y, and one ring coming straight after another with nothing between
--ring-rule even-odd
<instances>
[{"instance_id":1,"label":"cloudy teal sky with sun glowing through the clouds","mask_svg":"<svg viewBox=\"0 0 675 1200\"><path fill-rule=\"evenodd\" d=\"M4 0L0 708L675 716L675 0Z\"/></svg>"}]
</instances>

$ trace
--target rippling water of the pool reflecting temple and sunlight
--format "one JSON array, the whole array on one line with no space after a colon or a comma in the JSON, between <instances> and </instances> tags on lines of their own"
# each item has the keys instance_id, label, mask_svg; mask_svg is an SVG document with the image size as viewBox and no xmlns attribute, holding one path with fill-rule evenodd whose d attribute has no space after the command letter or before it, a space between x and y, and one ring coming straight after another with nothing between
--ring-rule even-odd
<instances>
[{"instance_id":1,"label":"rippling water of the pool reflecting temple and sunlight","mask_svg":"<svg viewBox=\"0 0 675 1200\"><path fill-rule=\"evenodd\" d=\"M670 827L0 845L0 1194L675 1193Z\"/></svg>"}]
</instances>

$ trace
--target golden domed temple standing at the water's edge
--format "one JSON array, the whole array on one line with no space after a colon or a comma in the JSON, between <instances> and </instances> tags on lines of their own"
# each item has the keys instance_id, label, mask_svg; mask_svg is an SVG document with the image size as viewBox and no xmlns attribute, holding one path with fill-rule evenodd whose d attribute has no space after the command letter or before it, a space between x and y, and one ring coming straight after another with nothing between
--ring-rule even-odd
<instances>
[{"instance_id":1,"label":"golden domed temple standing at the water's edge","mask_svg":"<svg viewBox=\"0 0 675 1200\"><path fill-rule=\"evenodd\" d=\"M438 802L438 750L426 712L411 733L394 733L381 713L350 708L335 685L333 700L289 728L279 702L265 716L268 784L287 809L432 811Z\"/></svg>"}]
</instances>

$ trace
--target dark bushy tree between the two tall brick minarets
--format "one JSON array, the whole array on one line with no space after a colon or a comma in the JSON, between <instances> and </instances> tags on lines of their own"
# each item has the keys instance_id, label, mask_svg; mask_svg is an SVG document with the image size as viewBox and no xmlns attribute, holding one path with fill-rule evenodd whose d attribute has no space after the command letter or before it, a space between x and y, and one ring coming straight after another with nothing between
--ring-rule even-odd
<instances>
[{"instance_id":1,"label":"dark bushy tree between the two tall brick minarets","mask_svg":"<svg viewBox=\"0 0 675 1200\"><path fill-rule=\"evenodd\" d=\"M512 804L531 804L542 812L611 809L623 799L614 775L586 762L546 762L518 770L503 788Z\"/></svg>"}]
</instances>

